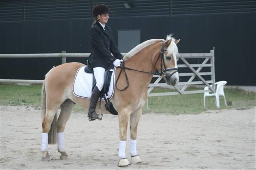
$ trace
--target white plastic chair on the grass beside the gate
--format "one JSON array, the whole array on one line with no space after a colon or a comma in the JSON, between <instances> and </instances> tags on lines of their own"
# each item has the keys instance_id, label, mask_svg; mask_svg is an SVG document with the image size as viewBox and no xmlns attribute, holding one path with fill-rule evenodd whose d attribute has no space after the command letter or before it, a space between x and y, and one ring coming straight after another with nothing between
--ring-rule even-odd
<instances>
[{"instance_id":1,"label":"white plastic chair on the grass beside the gate","mask_svg":"<svg viewBox=\"0 0 256 170\"><path fill-rule=\"evenodd\" d=\"M218 81L218 82L216 82L215 83L216 93L204 92L204 107L205 107L205 98L207 96L215 96L215 105L218 108L219 108L219 96L223 96L224 97L224 101L225 101L225 105L227 105L225 94L224 94L224 85L226 83L227 83L226 81ZM209 90L209 87L208 86L204 87L204 90Z\"/></svg>"}]
</instances>

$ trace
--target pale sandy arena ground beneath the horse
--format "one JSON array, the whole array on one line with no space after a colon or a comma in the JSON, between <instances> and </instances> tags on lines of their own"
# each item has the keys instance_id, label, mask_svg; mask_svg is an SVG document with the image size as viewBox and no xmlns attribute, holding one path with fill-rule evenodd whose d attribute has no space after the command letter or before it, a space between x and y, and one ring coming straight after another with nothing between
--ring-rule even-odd
<instances>
[{"instance_id":1,"label":"pale sandy arena ground beneath the horse","mask_svg":"<svg viewBox=\"0 0 256 170\"><path fill-rule=\"evenodd\" d=\"M40 110L0 105L0 169L256 169L256 107L144 114L137 138L142 163L125 168L117 167L116 116L88 122L85 113L73 113L64 132L69 158L60 160L57 145L49 145L52 161L42 162Z\"/></svg>"}]
</instances>

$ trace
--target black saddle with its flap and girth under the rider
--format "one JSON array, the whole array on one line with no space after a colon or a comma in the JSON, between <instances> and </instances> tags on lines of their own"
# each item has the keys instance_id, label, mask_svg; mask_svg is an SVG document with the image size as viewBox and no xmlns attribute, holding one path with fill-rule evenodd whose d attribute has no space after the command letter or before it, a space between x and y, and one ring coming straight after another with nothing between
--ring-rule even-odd
<instances>
[{"instance_id":1,"label":"black saddle with its flap and girth under the rider","mask_svg":"<svg viewBox=\"0 0 256 170\"><path fill-rule=\"evenodd\" d=\"M101 102L101 99L104 98L104 100L106 102L105 109L107 111L109 111L112 115L118 115L118 112L115 110L113 104L110 102L109 98L107 97L107 93L109 91L109 86L110 86L110 81L111 81L111 76L113 73L113 68L114 68L114 65L105 70L104 85L103 85L103 88L102 88L101 94L100 94L100 102ZM93 68L90 67L88 60L87 60L87 66L85 66L84 71L86 73L92 74L92 89L91 89L91 91L92 91L94 89L94 87L96 86L96 79L94 77Z\"/></svg>"}]
</instances>

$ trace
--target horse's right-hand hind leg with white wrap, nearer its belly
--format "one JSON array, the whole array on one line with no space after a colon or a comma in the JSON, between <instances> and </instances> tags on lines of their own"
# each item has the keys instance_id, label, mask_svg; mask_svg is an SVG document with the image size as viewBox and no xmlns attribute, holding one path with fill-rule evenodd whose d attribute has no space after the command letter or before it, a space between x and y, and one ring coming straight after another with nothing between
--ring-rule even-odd
<instances>
[{"instance_id":1,"label":"horse's right-hand hind leg with white wrap, nearer its belly","mask_svg":"<svg viewBox=\"0 0 256 170\"><path fill-rule=\"evenodd\" d=\"M68 154L65 152L65 145L64 145L64 129L67 121L71 116L71 111L75 104L72 100L67 99L65 102L60 105L60 114L57 121L57 139L58 139L58 152L60 152L60 159L68 158Z\"/></svg>"}]
</instances>

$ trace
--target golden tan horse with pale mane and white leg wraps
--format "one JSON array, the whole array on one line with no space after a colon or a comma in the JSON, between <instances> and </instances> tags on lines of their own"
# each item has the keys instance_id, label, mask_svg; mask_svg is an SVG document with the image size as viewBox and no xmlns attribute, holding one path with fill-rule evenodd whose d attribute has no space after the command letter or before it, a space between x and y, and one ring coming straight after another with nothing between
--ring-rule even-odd
<instances>
[{"instance_id":1,"label":"golden tan horse with pale mane and white leg wraps","mask_svg":"<svg viewBox=\"0 0 256 170\"><path fill-rule=\"evenodd\" d=\"M118 112L119 120L119 163L118 166L127 166L131 163L140 163L137 156L136 138L137 126L142 115L142 107L147 100L147 87L156 70L164 77L168 85L176 85L179 81L177 68L177 43L171 35L167 35L167 40L152 39L137 45L123 60L125 62L126 75L121 73L116 82L115 93L111 98L114 108ZM89 99L79 98L73 94L72 85L76 72L81 63L66 63L52 68L46 75L42 87L42 145L43 161L50 161L48 144L58 143L60 159L68 157L64 147L65 124L70 118L73 106L78 104L84 109L89 107ZM116 68L116 75L121 71L121 67ZM126 90L127 78L129 87ZM117 80L117 76L115 78ZM115 81L116 81L115 80ZM99 103L99 102L98 102ZM103 103L104 104L104 103ZM57 110L61 111L57 120ZM107 113L102 107L102 112ZM85 117L85 121L86 121ZM130 120L130 155L129 162L126 158L125 148L127 140L127 126Z\"/></svg>"}]
</instances>

